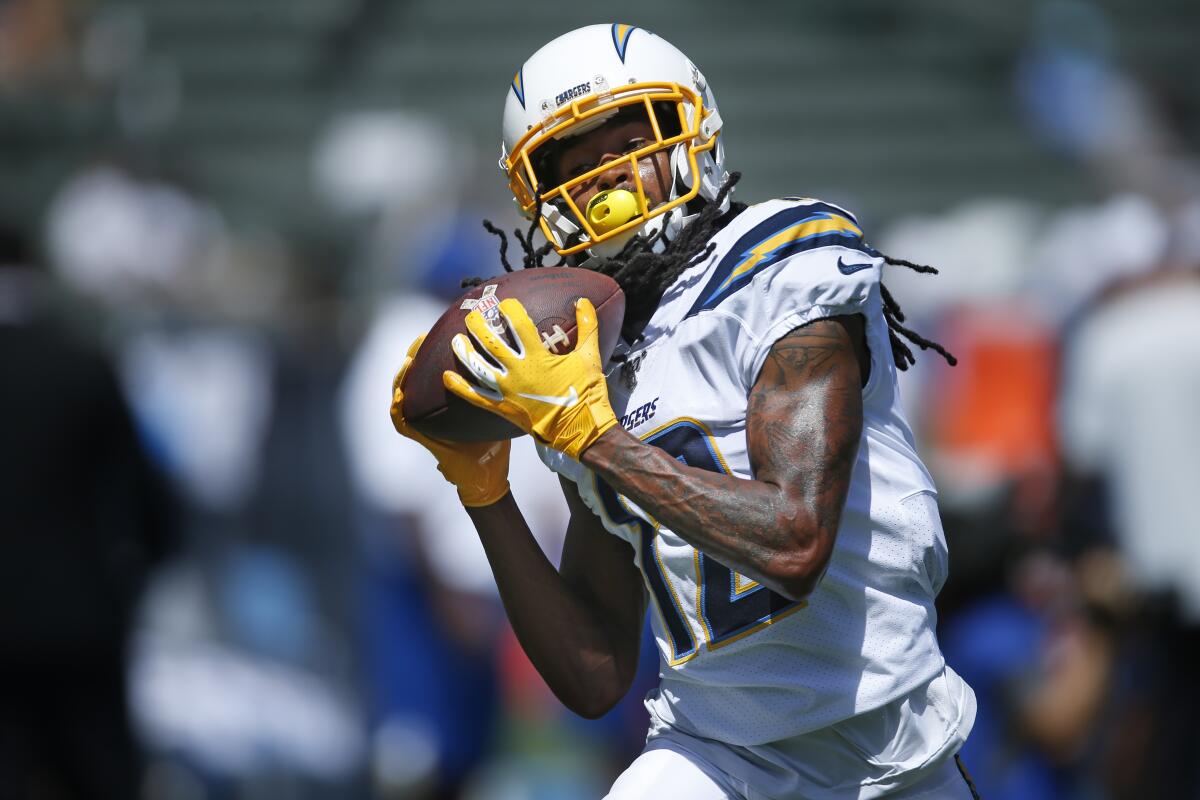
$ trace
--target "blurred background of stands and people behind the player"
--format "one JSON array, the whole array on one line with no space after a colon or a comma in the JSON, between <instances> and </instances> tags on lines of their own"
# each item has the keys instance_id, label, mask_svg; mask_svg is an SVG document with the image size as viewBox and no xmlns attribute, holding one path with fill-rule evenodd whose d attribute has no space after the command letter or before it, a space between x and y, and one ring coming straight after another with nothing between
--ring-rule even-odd
<instances>
[{"instance_id":1,"label":"blurred background of stands and people behind the player","mask_svg":"<svg viewBox=\"0 0 1200 800\"><path fill-rule=\"evenodd\" d=\"M1200 798L1193 0L0 0L0 798L598 798L392 372L499 270L504 95L626 22L738 197L884 252L984 796ZM562 500L514 483L557 558Z\"/></svg>"}]
</instances>

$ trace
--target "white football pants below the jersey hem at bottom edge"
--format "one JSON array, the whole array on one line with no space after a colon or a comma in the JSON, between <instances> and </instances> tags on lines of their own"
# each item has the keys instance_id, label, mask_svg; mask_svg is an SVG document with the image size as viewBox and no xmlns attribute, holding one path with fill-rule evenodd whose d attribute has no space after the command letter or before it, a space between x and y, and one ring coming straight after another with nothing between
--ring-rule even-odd
<instances>
[{"instance_id":1,"label":"white football pants below the jersey hem at bottom edge","mask_svg":"<svg viewBox=\"0 0 1200 800\"><path fill-rule=\"evenodd\" d=\"M954 758L923 770L928 772L904 789L890 793L892 800L972 800L973 794ZM736 788L733 780L712 764L670 742L646 750L612 784L605 800L785 800L767 798L748 787ZM792 800L792 799L786 799ZM796 798L794 800L820 800Z\"/></svg>"}]
</instances>

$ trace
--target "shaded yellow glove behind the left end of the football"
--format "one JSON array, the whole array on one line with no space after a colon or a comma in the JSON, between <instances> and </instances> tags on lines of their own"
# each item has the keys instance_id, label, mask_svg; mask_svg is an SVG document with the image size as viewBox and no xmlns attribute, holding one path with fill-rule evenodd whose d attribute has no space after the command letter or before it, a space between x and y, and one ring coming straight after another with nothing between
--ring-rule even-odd
<instances>
[{"instance_id":1,"label":"shaded yellow glove behind the left end of the football","mask_svg":"<svg viewBox=\"0 0 1200 800\"><path fill-rule=\"evenodd\" d=\"M408 348L404 363L391 381L391 423L396 433L424 446L438 459L438 471L458 488L464 506L492 505L509 491L509 441L443 441L413 429L404 420L404 373L425 341L425 335Z\"/></svg>"}]
</instances>

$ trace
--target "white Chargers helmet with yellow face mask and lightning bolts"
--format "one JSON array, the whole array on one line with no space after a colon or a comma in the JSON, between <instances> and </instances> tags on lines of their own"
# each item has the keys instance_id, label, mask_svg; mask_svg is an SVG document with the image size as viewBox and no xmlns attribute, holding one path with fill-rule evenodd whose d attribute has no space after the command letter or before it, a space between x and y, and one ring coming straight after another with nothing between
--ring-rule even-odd
<instances>
[{"instance_id":1,"label":"white Chargers helmet with yellow face mask and lightning bolts","mask_svg":"<svg viewBox=\"0 0 1200 800\"><path fill-rule=\"evenodd\" d=\"M594 224L569 190L613 162L558 182L542 163L545 148L625 109L644 110L655 142L620 157L630 161L636 182L635 198L624 196L631 216L616 227L612 219ZM727 178L720 130L713 91L688 56L642 28L588 25L553 40L517 70L504 103L500 169L524 216L541 206L541 230L559 254L610 255L638 233L654 236L666 228L665 239L673 240L698 212L692 200L716 199ZM662 150L671 154L672 186L666 201L650 209L637 161Z\"/></svg>"}]
</instances>

